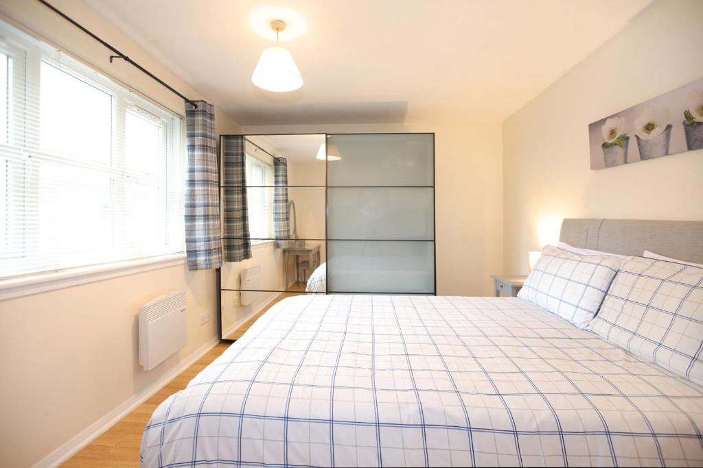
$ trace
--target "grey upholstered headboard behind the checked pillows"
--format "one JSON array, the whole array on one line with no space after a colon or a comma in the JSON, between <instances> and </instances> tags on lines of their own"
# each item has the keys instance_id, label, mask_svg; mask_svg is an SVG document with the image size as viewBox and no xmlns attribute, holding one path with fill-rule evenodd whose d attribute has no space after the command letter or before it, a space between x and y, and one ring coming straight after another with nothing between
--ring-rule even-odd
<instances>
[{"instance_id":1,"label":"grey upholstered headboard behind the checked pillows","mask_svg":"<svg viewBox=\"0 0 703 468\"><path fill-rule=\"evenodd\" d=\"M603 252L642 255L650 250L703 263L703 221L566 219L559 240Z\"/></svg>"}]
</instances>

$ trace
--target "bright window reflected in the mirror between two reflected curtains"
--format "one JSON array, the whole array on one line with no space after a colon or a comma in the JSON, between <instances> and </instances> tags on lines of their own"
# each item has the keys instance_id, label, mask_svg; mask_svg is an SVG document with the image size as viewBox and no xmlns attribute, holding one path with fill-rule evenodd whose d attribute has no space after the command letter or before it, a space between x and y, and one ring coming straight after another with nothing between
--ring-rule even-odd
<instances>
[{"instance_id":1,"label":"bright window reflected in the mirror between two reflected curtains","mask_svg":"<svg viewBox=\"0 0 703 468\"><path fill-rule=\"evenodd\" d=\"M252 239L270 239L273 225L273 189L270 187L273 185L273 168L247 154L247 185L250 186L247 187L249 235Z\"/></svg>"}]
</instances>

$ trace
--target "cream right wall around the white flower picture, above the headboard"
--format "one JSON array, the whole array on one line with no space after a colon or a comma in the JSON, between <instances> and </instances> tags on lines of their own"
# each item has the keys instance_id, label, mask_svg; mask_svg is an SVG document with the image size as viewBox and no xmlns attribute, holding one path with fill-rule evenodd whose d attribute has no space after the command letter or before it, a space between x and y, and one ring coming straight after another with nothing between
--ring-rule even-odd
<instances>
[{"instance_id":1,"label":"cream right wall around the white flower picture, above the headboard","mask_svg":"<svg viewBox=\"0 0 703 468\"><path fill-rule=\"evenodd\" d=\"M703 76L701 18L703 1L655 2L505 121L505 272L562 218L703 220L702 150L591 171L588 148L588 123Z\"/></svg>"}]
</instances>

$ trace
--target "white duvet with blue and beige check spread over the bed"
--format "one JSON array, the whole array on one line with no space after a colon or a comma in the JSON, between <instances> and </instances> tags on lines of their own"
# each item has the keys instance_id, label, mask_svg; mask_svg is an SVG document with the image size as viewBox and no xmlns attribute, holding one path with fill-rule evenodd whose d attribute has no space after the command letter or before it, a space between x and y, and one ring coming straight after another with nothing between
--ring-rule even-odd
<instances>
[{"instance_id":1,"label":"white duvet with blue and beige check spread over the bed","mask_svg":"<svg viewBox=\"0 0 703 468\"><path fill-rule=\"evenodd\" d=\"M703 387L519 298L279 302L143 434L144 467L703 464Z\"/></svg>"}]
</instances>

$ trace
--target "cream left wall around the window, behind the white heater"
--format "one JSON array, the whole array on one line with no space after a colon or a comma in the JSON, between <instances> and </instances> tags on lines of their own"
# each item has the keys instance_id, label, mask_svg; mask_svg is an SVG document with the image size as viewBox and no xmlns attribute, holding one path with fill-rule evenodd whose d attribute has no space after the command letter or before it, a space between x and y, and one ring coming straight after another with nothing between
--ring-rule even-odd
<instances>
[{"instance_id":1,"label":"cream left wall around the window, behind the white heater","mask_svg":"<svg viewBox=\"0 0 703 468\"><path fill-rule=\"evenodd\" d=\"M203 98L81 1L52 3L188 98ZM131 65L110 64L110 51L38 1L4 0L0 13L183 113L180 98ZM239 133L238 123L219 110L216 129ZM176 289L188 291L188 344L145 373L138 365L138 307ZM214 271L188 272L176 265L0 301L0 464L39 462L117 406L148 392L217 337L217 295ZM210 321L200 326L203 313Z\"/></svg>"}]
</instances>

